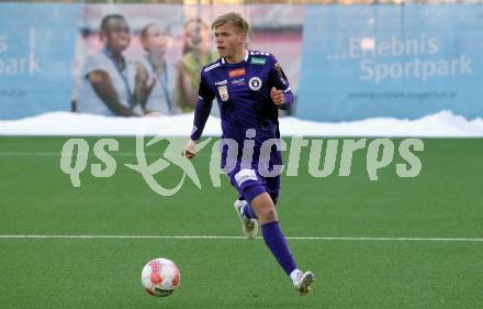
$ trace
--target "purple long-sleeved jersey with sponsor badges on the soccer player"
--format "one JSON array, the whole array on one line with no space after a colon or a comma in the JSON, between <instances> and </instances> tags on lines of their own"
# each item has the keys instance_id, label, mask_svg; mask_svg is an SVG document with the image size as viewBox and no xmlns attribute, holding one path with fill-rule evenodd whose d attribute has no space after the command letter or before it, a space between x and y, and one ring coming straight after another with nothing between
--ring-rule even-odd
<instances>
[{"instance_id":1,"label":"purple long-sleeved jersey with sponsor badges on the soccer player","mask_svg":"<svg viewBox=\"0 0 483 309\"><path fill-rule=\"evenodd\" d=\"M214 98L220 106L223 139L232 139L238 144L236 165L240 164L244 141L255 141L252 166L259 161L260 147L265 141L280 139L279 107L270 98L270 89L284 91L284 104L289 109L293 95L289 81L277 59L269 53L249 51L243 62L228 64L221 58L203 67L191 139L201 137ZM226 151L222 165L226 164ZM272 147L270 165L281 164L281 154Z\"/></svg>"}]
</instances>

